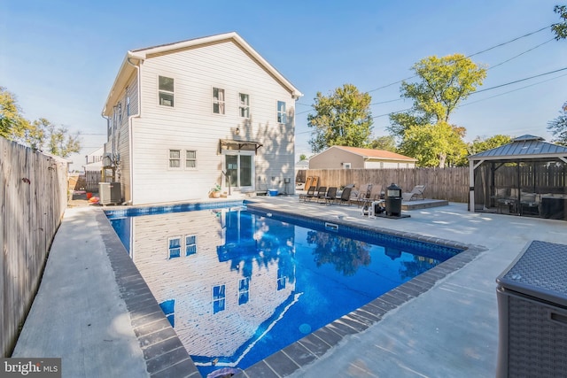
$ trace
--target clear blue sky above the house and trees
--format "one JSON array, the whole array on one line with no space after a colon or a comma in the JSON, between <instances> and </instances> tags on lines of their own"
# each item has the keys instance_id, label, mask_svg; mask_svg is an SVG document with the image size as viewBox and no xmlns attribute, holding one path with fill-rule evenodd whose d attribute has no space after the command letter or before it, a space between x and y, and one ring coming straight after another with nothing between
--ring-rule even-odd
<instances>
[{"instance_id":1,"label":"clear blue sky above the house and trees","mask_svg":"<svg viewBox=\"0 0 567 378\"><path fill-rule=\"evenodd\" d=\"M82 165L105 142L100 113L128 50L236 31L304 94L299 157L312 154L307 114L318 91L329 95L345 83L369 91L372 103L384 103L372 105L373 134L387 135L386 114L411 106L398 81L413 75L418 60L493 48L471 57L489 68L479 88L487 90L463 102L451 122L466 127L468 142L496 134L550 140L548 121L567 101L567 70L491 88L567 67L567 40L552 40L549 28L522 37L559 22L555 4L563 3L4 0L0 86L17 96L28 120L81 131L84 149L73 158Z\"/></svg>"}]
</instances>

